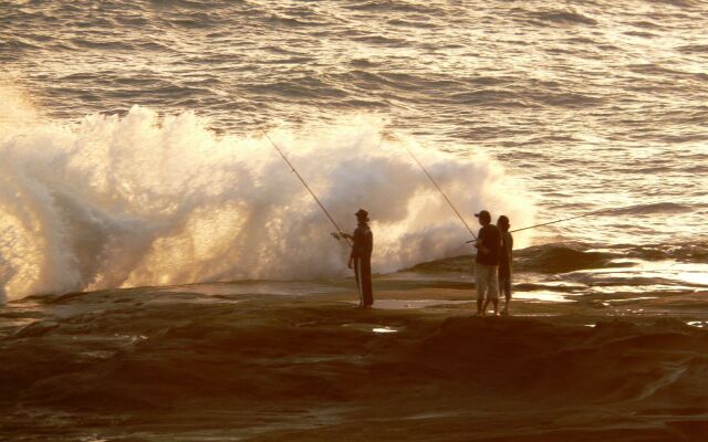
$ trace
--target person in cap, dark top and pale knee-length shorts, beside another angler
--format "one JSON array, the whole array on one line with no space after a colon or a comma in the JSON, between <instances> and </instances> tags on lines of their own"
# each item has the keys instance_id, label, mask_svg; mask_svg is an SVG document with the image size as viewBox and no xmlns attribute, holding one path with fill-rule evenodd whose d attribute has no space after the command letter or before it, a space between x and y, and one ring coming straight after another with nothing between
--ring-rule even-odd
<instances>
[{"instance_id":1,"label":"person in cap, dark top and pale knee-length shorts, beside another angler","mask_svg":"<svg viewBox=\"0 0 708 442\"><path fill-rule=\"evenodd\" d=\"M477 315L487 313L489 303L494 305L494 315L499 314L498 270L501 255L501 234L491 223L491 214L487 210L475 213L482 225L477 235L477 257L475 259L475 276L477 283Z\"/></svg>"}]
</instances>

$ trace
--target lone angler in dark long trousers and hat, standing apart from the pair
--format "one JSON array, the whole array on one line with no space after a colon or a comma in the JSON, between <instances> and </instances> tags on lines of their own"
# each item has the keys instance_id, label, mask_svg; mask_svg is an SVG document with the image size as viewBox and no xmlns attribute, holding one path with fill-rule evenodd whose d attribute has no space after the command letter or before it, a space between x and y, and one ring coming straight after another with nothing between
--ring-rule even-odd
<instances>
[{"instance_id":1,"label":"lone angler in dark long trousers and hat, standing apart from the pair","mask_svg":"<svg viewBox=\"0 0 708 442\"><path fill-rule=\"evenodd\" d=\"M353 241L348 267L354 269L360 305L363 308L371 308L374 304L374 295L372 292L372 251L374 249L374 234L368 228L368 212L360 209L354 214L356 215L357 224L354 234L342 233L341 235Z\"/></svg>"}]
</instances>

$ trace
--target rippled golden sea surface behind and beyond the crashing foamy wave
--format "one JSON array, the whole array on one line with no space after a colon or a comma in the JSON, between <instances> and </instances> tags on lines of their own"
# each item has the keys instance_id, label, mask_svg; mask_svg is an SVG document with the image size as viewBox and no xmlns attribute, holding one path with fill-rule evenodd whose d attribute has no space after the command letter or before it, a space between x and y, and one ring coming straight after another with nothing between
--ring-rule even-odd
<instances>
[{"instance_id":1,"label":"rippled golden sea surface behind and beyond the crashing foamy wave","mask_svg":"<svg viewBox=\"0 0 708 442\"><path fill-rule=\"evenodd\" d=\"M523 222L629 207L537 242L690 242L708 214L706 29L691 0L1 1L0 72L67 125L140 105L238 138L373 114L488 152L540 209Z\"/></svg>"}]
</instances>

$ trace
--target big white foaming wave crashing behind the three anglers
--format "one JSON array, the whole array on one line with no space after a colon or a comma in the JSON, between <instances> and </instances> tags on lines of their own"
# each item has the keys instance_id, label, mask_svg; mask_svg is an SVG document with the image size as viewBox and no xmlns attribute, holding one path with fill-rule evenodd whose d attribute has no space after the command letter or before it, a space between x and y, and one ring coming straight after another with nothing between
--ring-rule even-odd
<instances>
[{"instance_id":1,"label":"big white foaming wave crashing behind the three anglers","mask_svg":"<svg viewBox=\"0 0 708 442\"><path fill-rule=\"evenodd\" d=\"M22 110L23 115L28 113ZM7 125L0 137L0 295L342 275L347 248L269 141L219 137L191 112L77 124ZM469 233L402 144L465 217L531 222L523 192L482 155L460 158L382 136L379 119L281 128L288 152L345 230L365 207L374 271L469 253Z\"/></svg>"}]
</instances>

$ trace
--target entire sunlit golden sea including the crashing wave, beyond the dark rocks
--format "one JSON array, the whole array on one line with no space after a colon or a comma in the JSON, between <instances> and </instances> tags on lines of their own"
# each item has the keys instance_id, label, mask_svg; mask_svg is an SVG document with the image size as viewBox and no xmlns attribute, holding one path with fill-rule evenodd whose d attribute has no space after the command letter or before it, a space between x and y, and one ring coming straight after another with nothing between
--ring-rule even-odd
<instances>
[{"instance_id":1,"label":"entire sunlit golden sea including the crashing wave, beyond the dark rocks","mask_svg":"<svg viewBox=\"0 0 708 442\"><path fill-rule=\"evenodd\" d=\"M381 273L471 252L408 147L473 228L622 208L517 244L705 283L707 28L690 0L2 1L2 296L346 274L263 130L344 230L371 211Z\"/></svg>"}]
</instances>

